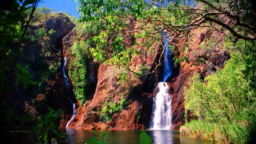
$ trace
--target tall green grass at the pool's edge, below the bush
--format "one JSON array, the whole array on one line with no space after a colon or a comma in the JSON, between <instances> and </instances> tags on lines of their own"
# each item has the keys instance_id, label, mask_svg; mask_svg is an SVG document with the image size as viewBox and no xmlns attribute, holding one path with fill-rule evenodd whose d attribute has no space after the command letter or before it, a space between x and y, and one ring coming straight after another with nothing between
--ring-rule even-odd
<instances>
[{"instance_id":1,"label":"tall green grass at the pool's edge, below the bush","mask_svg":"<svg viewBox=\"0 0 256 144\"><path fill-rule=\"evenodd\" d=\"M256 110L241 110L235 120L226 124L192 120L180 127L180 134L220 144L252 144L256 136Z\"/></svg>"}]
</instances>

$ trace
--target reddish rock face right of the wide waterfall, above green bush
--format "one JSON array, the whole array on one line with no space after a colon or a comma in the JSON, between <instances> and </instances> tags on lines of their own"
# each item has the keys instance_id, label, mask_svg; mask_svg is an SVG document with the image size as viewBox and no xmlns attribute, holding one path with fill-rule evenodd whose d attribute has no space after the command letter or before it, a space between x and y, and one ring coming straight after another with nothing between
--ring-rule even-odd
<instances>
[{"instance_id":1,"label":"reddish rock face right of the wide waterfall, above green bush","mask_svg":"<svg viewBox=\"0 0 256 144\"><path fill-rule=\"evenodd\" d=\"M207 31L207 30L206 30ZM206 64L198 63L197 66L191 66L191 63L181 62L180 66L176 69L178 70L178 76L172 78L169 82L169 88L171 90L170 94L172 95L172 122L174 125L171 129L178 129L181 124L185 123L184 119L184 86L188 82L189 78L193 76L195 72L201 74L202 78L224 68L224 62L230 59L230 55L227 50L224 50L220 44L222 44L224 36L219 32L214 32L210 39L215 40L217 43L213 48L212 52L207 52L206 50L200 49L200 44L204 41L205 34L197 34L195 31L196 37L192 41L192 44L189 46L191 52L186 51L185 55L190 58L190 61L195 61L196 58L204 58ZM218 36L216 39L215 36ZM180 43L184 43L180 41ZM219 44L219 45L218 45ZM193 54L196 52L195 54ZM206 55L209 54L207 57ZM182 68L183 66L183 68ZM190 112L188 112L188 117L193 117Z\"/></svg>"}]
</instances>

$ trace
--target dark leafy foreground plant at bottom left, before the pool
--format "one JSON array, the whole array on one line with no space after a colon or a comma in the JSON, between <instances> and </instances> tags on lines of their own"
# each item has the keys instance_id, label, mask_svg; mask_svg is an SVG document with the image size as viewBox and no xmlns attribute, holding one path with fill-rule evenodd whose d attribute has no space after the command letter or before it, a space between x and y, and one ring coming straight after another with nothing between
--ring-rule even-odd
<instances>
[{"instance_id":1,"label":"dark leafy foreground plant at bottom left, before the pool","mask_svg":"<svg viewBox=\"0 0 256 144\"><path fill-rule=\"evenodd\" d=\"M56 122L64 110L54 111L52 108L47 108L49 112L46 115L41 115L37 118L37 126L34 127L37 142L39 144L57 143L58 138L64 138L64 134L58 133L58 126Z\"/></svg>"}]
</instances>

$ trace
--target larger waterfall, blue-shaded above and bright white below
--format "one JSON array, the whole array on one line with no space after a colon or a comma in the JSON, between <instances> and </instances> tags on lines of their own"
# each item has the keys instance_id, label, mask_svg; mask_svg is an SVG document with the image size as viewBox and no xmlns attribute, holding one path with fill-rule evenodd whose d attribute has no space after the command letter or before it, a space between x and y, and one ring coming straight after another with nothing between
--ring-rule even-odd
<instances>
[{"instance_id":1,"label":"larger waterfall, blue-shaded above and bright white below","mask_svg":"<svg viewBox=\"0 0 256 144\"><path fill-rule=\"evenodd\" d=\"M165 37L165 35L163 35ZM169 38L164 38L164 75L162 82L159 82L156 90L158 93L153 98L152 115L150 120L150 129L169 130L172 126L172 98L169 92L169 86L166 80L172 74L172 59L168 44Z\"/></svg>"}]
</instances>

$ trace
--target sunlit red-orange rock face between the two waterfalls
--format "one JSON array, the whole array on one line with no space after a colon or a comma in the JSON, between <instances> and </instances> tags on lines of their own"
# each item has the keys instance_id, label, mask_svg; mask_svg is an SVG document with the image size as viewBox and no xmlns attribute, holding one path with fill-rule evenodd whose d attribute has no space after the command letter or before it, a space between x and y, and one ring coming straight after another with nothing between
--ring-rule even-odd
<instances>
[{"instance_id":1,"label":"sunlit red-orange rock face between the two waterfalls","mask_svg":"<svg viewBox=\"0 0 256 144\"><path fill-rule=\"evenodd\" d=\"M129 41L127 40L129 43ZM131 68L138 69L142 62L146 66L152 67L157 55L158 47L155 46L155 54L148 56L137 56ZM144 61L141 61L144 59ZM93 66L92 66L93 67ZM92 69L93 70L93 69ZM133 77L134 81L119 84L117 76L126 70L115 66L100 64L97 75L97 86L92 100L79 107L76 118L70 124L70 128L84 129L109 129L109 130L137 130L144 129L144 121L148 119L150 112L148 106L152 105L152 95L143 94L141 89L144 77ZM89 80L94 81L93 73L89 72ZM150 98L151 97L151 98ZM109 122L106 122L104 114L100 116L100 111L106 102L116 102L120 104L121 98L128 101L128 105L120 112L115 113ZM149 114L149 115L147 115Z\"/></svg>"}]
</instances>

